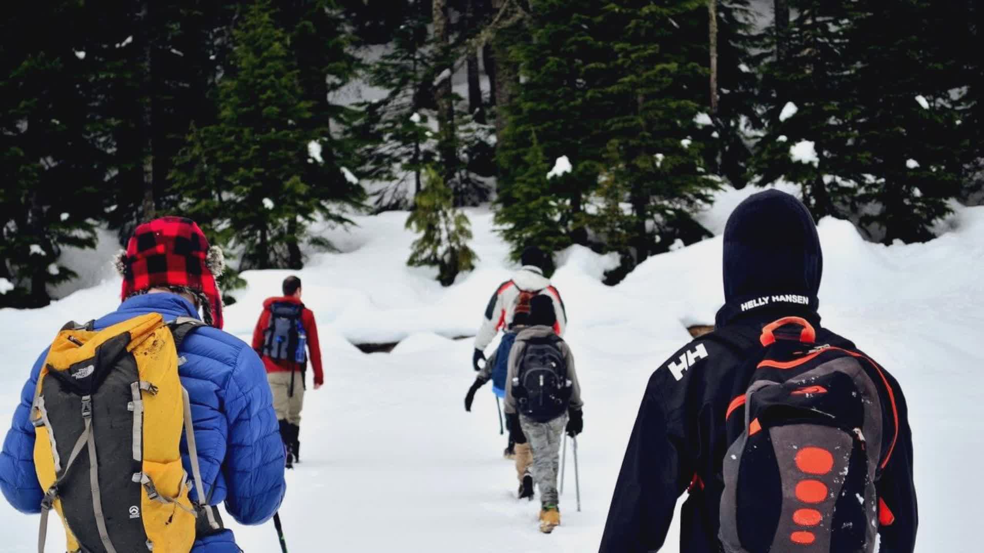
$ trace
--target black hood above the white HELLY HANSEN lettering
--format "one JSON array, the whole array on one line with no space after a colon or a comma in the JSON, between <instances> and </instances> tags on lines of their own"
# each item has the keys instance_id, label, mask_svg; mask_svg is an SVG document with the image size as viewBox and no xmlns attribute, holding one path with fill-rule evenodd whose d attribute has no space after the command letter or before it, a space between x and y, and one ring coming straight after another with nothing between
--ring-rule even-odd
<instances>
[{"instance_id":1,"label":"black hood above the white HELLY HANSEN lettering","mask_svg":"<svg viewBox=\"0 0 984 553\"><path fill-rule=\"evenodd\" d=\"M778 190L745 199L724 227L724 300L767 294L817 297L824 271L817 225Z\"/></svg>"}]
</instances>

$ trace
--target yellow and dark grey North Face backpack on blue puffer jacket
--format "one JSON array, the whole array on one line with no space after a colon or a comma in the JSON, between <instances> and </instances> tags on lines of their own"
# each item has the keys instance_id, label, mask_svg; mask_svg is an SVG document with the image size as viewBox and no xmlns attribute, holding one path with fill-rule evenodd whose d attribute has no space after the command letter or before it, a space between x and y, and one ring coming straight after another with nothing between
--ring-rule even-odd
<instances>
[{"instance_id":1,"label":"yellow and dark grey North Face backpack on blue puffer jacket","mask_svg":"<svg viewBox=\"0 0 984 553\"><path fill-rule=\"evenodd\" d=\"M221 527L192 503L181 464L185 430L201 494L188 393L177 348L200 321L165 323L151 313L102 331L67 324L51 344L31 407L34 467L41 489L38 551L51 509L68 550L187 552L199 532ZM201 495L199 495L201 497Z\"/></svg>"}]
</instances>

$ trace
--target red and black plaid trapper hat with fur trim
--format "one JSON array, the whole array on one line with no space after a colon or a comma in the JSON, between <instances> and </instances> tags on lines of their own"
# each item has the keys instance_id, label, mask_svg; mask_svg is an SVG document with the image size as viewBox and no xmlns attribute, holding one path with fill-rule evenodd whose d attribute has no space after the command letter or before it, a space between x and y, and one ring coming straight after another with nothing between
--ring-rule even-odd
<instances>
[{"instance_id":1,"label":"red and black plaid trapper hat with fur trim","mask_svg":"<svg viewBox=\"0 0 984 553\"><path fill-rule=\"evenodd\" d=\"M209 246L205 233L190 218L165 216L141 224L118 266L123 275L122 299L154 287L187 288L205 296L206 322L222 328L222 296L215 283L222 253Z\"/></svg>"}]
</instances>

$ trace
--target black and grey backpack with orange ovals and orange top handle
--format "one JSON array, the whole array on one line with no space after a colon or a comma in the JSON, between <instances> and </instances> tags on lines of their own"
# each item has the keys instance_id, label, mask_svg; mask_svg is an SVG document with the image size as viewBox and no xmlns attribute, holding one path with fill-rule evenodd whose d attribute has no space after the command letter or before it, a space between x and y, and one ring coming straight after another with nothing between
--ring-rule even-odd
<instances>
[{"instance_id":1,"label":"black and grey backpack with orange ovals and orange top handle","mask_svg":"<svg viewBox=\"0 0 984 553\"><path fill-rule=\"evenodd\" d=\"M897 433L883 422L894 404L881 367L816 343L798 317L767 326L761 342L765 349L746 367L747 390L725 415L723 551L872 553L875 481ZM892 404L883 404L876 380Z\"/></svg>"}]
</instances>

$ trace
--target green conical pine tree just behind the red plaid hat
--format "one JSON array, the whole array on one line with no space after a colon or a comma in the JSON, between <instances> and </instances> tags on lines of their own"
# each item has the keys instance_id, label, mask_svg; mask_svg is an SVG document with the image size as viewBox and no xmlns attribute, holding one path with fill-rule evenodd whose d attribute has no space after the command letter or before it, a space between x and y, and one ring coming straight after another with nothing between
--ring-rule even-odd
<instances>
[{"instance_id":1,"label":"green conical pine tree just behind the red plaid hat","mask_svg":"<svg viewBox=\"0 0 984 553\"><path fill-rule=\"evenodd\" d=\"M348 223L345 210L363 194L310 124L315 105L274 14L269 0L243 14L218 85L218 121L189 137L171 174L184 210L213 221L218 240L241 252L240 270L298 267L307 225Z\"/></svg>"}]
</instances>

